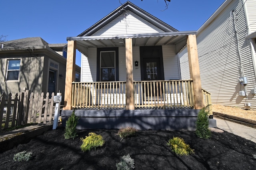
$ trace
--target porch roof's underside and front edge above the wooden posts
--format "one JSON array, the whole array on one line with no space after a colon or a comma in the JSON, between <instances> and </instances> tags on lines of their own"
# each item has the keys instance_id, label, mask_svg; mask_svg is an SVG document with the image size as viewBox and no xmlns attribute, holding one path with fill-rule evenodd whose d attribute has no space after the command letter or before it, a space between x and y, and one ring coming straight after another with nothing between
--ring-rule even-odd
<instances>
[{"instance_id":1,"label":"porch roof's underside and front edge above the wooden posts","mask_svg":"<svg viewBox=\"0 0 256 170\"><path fill-rule=\"evenodd\" d=\"M176 53L178 53L186 45L190 34L196 34L196 31L67 37L67 40L76 41L76 48L84 54L87 48L125 47L126 38L132 38L133 46L176 45Z\"/></svg>"}]
</instances>

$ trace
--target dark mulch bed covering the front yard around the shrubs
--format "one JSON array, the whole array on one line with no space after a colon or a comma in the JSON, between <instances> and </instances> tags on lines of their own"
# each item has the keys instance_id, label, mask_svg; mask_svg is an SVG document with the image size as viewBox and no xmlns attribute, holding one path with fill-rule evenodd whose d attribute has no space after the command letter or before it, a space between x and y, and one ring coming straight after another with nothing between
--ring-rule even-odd
<instances>
[{"instance_id":1,"label":"dark mulch bed covering the front yard around the shrubs","mask_svg":"<svg viewBox=\"0 0 256 170\"><path fill-rule=\"evenodd\" d=\"M80 138L89 132L102 135L105 144L82 152ZM210 139L204 140L197 138L193 131L148 130L138 131L136 136L120 142L117 132L118 129L81 130L74 140L65 140L64 128L58 127L0 154L0 169L111 170L116 169L116 163L126 154L134 159L137 170L256 169L253 157L256 143L231 133L212 133ZM176 156L166 145L172 137L182 137L195 154ZM14 154L23 150L33 152L32 160L14 162Z\"/></svg>"}]
</instances>

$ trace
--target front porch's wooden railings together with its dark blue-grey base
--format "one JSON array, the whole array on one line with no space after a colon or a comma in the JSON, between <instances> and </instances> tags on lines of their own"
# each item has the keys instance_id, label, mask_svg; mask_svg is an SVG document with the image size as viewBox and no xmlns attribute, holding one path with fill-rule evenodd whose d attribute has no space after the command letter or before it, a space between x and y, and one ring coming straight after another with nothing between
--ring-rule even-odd
<instances>
[{"instance_id":1,"label":"front porch's wooden railings together with its dark blue-grey base","mask_svg":"<svg viewBox=\"0 0 256 170\"><path fill-rule=\"evenodd\" d=\"M134 81L133 89L134 110L127 110L126 82L73 82L77 129L195 130L192 80ZM204 106L210 105L210 93L202 94ZM62 111L63 126L72 112Z\"/></svg>"}]
</instances>

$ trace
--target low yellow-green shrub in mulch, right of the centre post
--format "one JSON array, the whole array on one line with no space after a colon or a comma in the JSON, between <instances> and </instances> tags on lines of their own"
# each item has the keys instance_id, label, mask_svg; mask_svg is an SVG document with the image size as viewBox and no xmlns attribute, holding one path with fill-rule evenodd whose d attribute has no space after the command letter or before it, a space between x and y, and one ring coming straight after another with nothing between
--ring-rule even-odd
<instances>
[{"instance_id":1,"label":"low yellow-green shrub in mulch, right of the centre post","mask_svg":"<svg viewBox=\"0 0 256 170\"><path fill-rule=\"evenodd\" d=\"M167 145L177 156L194 154L194 149L191 149L190 146L184 142L184 139L180 137L169 139Z\"/></svg>"}]
</instances>

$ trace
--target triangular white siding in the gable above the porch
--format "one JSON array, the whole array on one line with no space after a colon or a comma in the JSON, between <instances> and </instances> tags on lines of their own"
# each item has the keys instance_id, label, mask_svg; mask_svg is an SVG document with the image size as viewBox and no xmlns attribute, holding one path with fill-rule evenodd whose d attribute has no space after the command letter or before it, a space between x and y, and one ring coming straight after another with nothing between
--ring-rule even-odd
<instances>
[{"instance_id":1,"label":"triangular white siding in the gable above the porch","mask_svg":"<svg viewBox=\"0 0 256 170\"><path fill-rule=\"evenodd\" d=\"M93 34L99 35L126 35L140 33L162 33L161 29L140 18L136 14L127 11L128 15L120 15L102 29Z\"/></svg>"}]
</instances>

